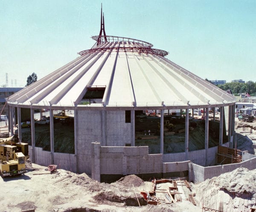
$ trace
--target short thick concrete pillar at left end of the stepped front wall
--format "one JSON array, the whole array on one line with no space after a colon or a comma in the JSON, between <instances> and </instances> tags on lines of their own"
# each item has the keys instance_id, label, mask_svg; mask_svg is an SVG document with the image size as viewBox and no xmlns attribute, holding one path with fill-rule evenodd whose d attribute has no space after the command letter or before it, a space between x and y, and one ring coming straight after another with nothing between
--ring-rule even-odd
<instances>
[{"instance_id":1,"label":"short thick concrete pillar at left end of the stepped front wall","mask_svg":"<svg viewBox=\"0 0 256 212\"><path fill-rule=\"evenodd\" d=\"M100 182L100 143L92 143L92 178Z\"/></svg>"}]
</instances>

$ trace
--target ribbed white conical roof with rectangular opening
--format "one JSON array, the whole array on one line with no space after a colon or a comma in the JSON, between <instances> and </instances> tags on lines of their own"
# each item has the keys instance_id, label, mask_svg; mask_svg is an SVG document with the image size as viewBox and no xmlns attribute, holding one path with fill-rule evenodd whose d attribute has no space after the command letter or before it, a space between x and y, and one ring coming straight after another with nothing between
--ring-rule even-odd
<instances>
[{"instance_id":1,"label":"ribbed white conical roof with rectangular opening","mask_svg":"<svg viewBox=\"0 0 256 212\"><path fill-rule=\"evenodd\" d=\"M94 36L94 40L98 40ZM107 36L72 62L12 95L25 107L215 107L233 96L185 70L140 40ZM207 70L206 70L207 71ZM104 88L100 102L79 105L90 88Z\"/></svg>"}]
</instances>

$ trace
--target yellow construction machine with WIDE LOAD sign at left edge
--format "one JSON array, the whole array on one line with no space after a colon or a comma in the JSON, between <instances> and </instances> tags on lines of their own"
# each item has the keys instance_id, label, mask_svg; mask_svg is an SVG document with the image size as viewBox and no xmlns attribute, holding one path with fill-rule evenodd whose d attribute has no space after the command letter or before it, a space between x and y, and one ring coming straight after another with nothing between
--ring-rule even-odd
<instances>
[{"instance_id":1,"label":"yellow construction machine with WIDE LOAD sign at left edge","mask_svg":"<svg viewBox=\"0 0 256 212\"><path fill-rule=\"evenodd\" d=\"M25 161L29 158L28 144L18 141L16 135L0 139L0 175L3 178L26 172Z\"/></svg>"}]
</instances>

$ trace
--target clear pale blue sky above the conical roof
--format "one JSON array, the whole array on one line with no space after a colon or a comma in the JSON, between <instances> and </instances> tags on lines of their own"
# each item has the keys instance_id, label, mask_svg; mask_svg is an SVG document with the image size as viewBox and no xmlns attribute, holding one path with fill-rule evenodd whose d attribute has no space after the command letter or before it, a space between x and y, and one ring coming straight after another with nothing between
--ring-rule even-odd
<instances>
[{"instance_id":1,"label":"clear pale blue sky above the conical roof","mask_svg":"<svg viewBox=\"0 0 256 212\"><path fill-rule=\"evenodd\" d=\"M204 79L256 82L256 0L0 0L0 86L91 48L101 3L107 35L150 42Z\"/></svg>"}]
</instances>

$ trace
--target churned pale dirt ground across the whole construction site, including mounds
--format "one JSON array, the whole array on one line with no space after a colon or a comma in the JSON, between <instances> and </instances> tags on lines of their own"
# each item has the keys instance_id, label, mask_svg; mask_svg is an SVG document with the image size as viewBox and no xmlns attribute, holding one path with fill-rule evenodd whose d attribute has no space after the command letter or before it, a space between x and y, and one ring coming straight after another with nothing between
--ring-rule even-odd
<instances>
[{"instance_id":1,"label":"churned pale dirt ground across the whole construction site, including mounds","mask_svg":"<svg viewBox=\"0 0 256 212\"><path fill-rule=\"evenodd\" d=\"M28 129L29 130L29 129ZM256 122L236 119L237 147L254 153ZM1 128L1 132L4 128ZM152 182L128 175L113 184L99 183L86 174L57 169L50 174L47 167L27 163L28 172L0 178L0 211L202 211L202 207L223 211L250 211L256 204L256 170L238 168L218 177L192 184L188 189L178 182L181 201L167 201L166 188L158 184L155 191L161 204L149 205L140 194L152 191ZM178 197L177 195L177 197ZM195 200L194 205L189 196ZM137 199L138 198L138 199ZM178 199L179 199L178 198ZM138 200L140 205L138 204ZM146 205L147 204L147 205Z\"/></svg>"}]
</instances>

